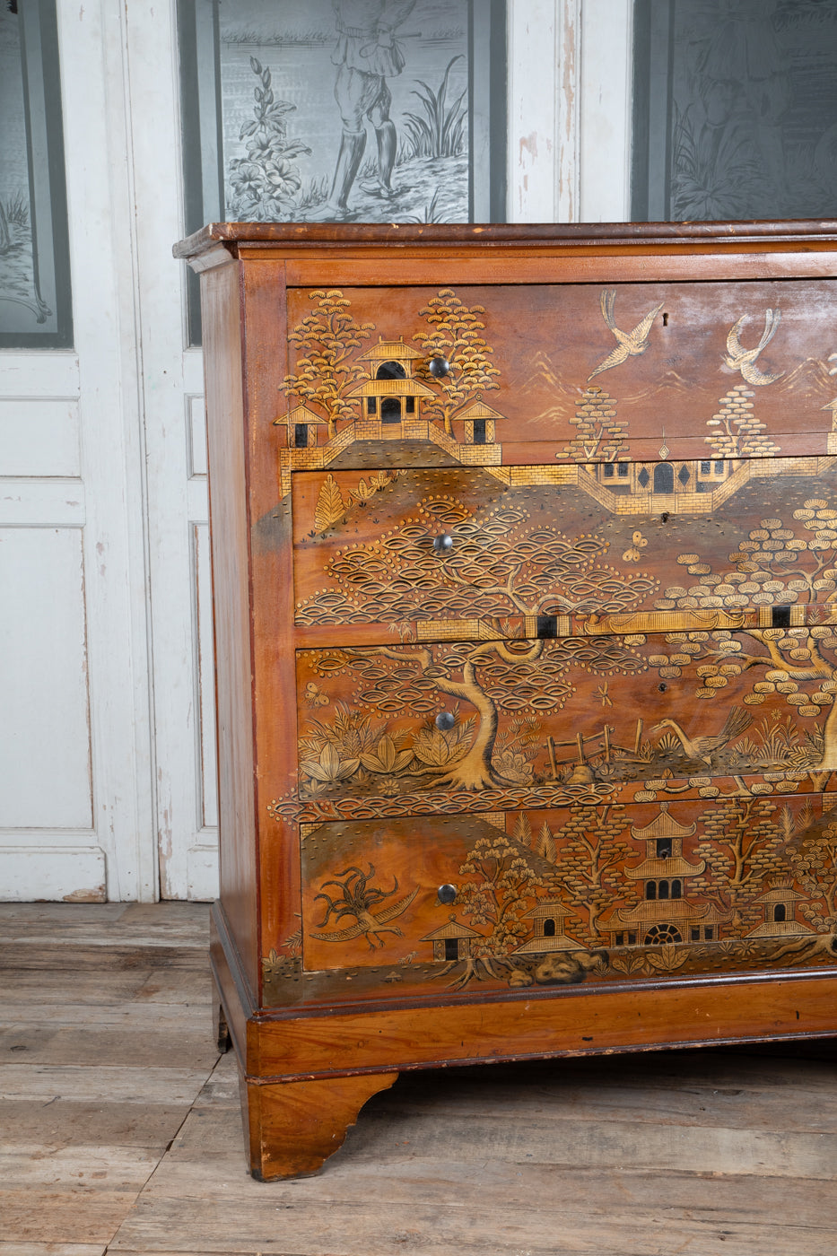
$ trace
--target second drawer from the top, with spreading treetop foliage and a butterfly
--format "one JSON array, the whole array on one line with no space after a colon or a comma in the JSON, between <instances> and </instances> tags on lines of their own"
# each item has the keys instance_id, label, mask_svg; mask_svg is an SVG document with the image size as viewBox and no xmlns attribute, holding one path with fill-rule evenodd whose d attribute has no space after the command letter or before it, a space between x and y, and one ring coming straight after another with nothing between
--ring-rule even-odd
<instances>
[{"instance_id":1,"label":"second drawer from the top, with spreading treetop foliage and a butterfly","mask_svg":"<svg viewBox=\"0 0 837 1256\"><path fill-rule=\"evenodd\" d=\"M411 639L604 632L592 617L645 612L670 612L672 631L728 627L748 608L762 627L772 615L798 627L814 607L826 620L834 465L826 455L298 475L295 622L361 641L364 624L386 625L366 639L395 628Z\"/></svg>"}]
</instances>

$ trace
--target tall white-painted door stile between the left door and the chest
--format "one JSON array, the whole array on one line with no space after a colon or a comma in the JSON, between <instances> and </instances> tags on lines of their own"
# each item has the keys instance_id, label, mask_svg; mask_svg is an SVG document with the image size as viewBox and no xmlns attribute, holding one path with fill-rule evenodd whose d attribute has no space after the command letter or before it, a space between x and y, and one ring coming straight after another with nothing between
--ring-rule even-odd
<instances>
[{"instance_id":1,"label":"tall white-painted door stile between the left door and the chest","mask_svg":"<svg viewBox=\"0 0 837 1256\"><path fill-rule=\"evenodd\" d=\"M128 4L126 46L134 111L142 103L131 129L132 231L142 335L160 892L163 898L211 899L217 896L217 830L207 795L214 795L215 772L204 769L204 759L215 752L215 730L214 703L202 685L211 685L212 668L204 674L209 646L197 603L199 582L209 582L209 565L197 570L199 551L207 554L209 546L199 544L196 531L209 521L202 353L186 348L187 274L171 252L185 212L175 0L161 0L153 10Z\"/></svg>"}]
</instances>

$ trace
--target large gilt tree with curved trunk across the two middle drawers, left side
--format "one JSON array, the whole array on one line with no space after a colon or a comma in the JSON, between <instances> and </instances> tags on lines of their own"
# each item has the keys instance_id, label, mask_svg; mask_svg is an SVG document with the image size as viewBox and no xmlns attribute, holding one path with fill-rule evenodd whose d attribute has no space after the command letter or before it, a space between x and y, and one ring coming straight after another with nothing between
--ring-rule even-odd
<instances>
[{"instance_id":1,"label":"large gilt tree with curved trunk across the two middle drawers, left side","mask_svg":"<svg viewBox=\"0 0 837 1256\"><path fill-rule=\"evenodd\" d=\"M444 558L432 544L440 525L452 538ZM630 610L654 593L657 584L650 575L607 565L607 548L599 536L569 538L534 524L519 507L476 515L452 499L429 497L401 528L337 551L326 568L336 584L300 604L298 618L357 623L481 617L490 641L364 647L344 652L347 666L361 678L356 700L368 712L429 715L439 710L437 703L426 705L434 693L474 712L469 740L459 736L454 744L454 730L432 727L412 734L417 764L410 771L435 776L425 784L469 790L517 785L524 765L513 764L506 775L494 754L499 712L561 710L574 692L573 664L602 676L647 666L622 637L550 641L525 633L525 618L593 607ZM434 636L439 641L437 627ZM408 736L403 725L398 735ZM439 750L435 761L431 744Z\"/></svg>"}]
</instances>

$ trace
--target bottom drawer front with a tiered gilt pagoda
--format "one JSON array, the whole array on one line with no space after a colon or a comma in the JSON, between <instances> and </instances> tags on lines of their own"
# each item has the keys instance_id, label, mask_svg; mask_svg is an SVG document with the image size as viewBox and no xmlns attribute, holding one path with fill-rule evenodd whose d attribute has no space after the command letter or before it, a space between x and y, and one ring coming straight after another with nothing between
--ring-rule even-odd
<instances>
[{"instance_id":1,"label":"bottom drawer front with a tiered gilt pagoda","mask_svg":"<svg viewBox=\"0 0 837 1256\"><path fill-rule=\"evenodd\" d=\"M833 963L837 799L819 801L307 825L295 980L333 1002Z\"/></svg>"}]
</instances>

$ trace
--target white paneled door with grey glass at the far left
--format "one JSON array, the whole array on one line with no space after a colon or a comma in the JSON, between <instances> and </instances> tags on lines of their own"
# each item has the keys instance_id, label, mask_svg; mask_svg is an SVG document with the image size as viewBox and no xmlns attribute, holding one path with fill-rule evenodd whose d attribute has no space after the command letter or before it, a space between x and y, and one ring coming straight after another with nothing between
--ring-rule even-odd
<instances>
[{"instance_id":1,"label":"white paneled door with grey glass at the far left","mask_svg":"<svg viewBox=\"0 0 837 1256\"><path fill-rule=\"evenodd\" d=\"M55 15L45 0L4 9L0 898L153 899L143 460L118 9L93 4L79 14L59 4ZM52 40L44 59L33 55L41 38ZM57 60L58 131L52 117L46 134L39 75L43 103L57 87ZM58 254L62 266L69 259L73 335L65 322L40 348L62 305L44 251L60 224L41 186L44 146L54 161L62 114L69 226ZM28 143L39 141L31 162Z\"/></svg>"}]
</instances>

